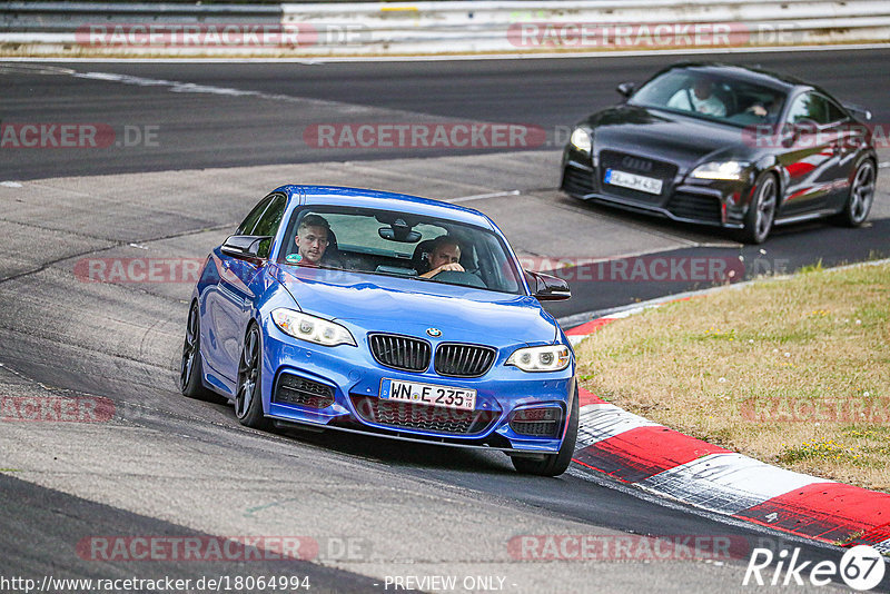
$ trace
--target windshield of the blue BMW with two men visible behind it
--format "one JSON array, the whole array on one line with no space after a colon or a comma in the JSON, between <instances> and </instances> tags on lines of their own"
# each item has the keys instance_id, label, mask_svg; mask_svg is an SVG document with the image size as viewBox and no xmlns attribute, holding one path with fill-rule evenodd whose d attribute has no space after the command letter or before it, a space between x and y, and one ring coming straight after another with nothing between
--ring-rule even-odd
<instances>
[{"instance_id":1,"label":"windshield of the blue BMW with two men visible behind it","mask_svg":"<svg viewBox=\"0 0 890 594\"><path fill-rule=\"evenodd\" d=\"M304 207L288 221L278 261L404 276L522 294L518 266L491 230L408 212Z\"/></svg>"}]
</instances>

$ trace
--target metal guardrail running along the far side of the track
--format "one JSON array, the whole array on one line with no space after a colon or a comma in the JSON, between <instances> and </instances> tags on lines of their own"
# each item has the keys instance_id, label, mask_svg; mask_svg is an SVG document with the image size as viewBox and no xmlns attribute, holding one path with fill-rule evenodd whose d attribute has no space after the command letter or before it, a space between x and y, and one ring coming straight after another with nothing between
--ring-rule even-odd
<instances>
[{"instance_id":1,"label":"metal guardrail running along the far side of the track","mask_svg":"<svg viewBox=\"0 0 890 594\"><path fill-rule=\"evenodd\" d=\"M890 42L890 0L0 2L0 51L7 55L435 55L849 42Z\"/></svg>"}]
</instances>

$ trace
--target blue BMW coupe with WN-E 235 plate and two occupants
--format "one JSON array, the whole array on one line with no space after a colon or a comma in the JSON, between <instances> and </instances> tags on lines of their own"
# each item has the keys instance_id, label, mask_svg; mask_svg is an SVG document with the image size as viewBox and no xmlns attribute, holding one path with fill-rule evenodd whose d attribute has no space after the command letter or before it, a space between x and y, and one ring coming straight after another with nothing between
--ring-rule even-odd
<instances>
[{"instance_id":1,"label":"blue BMW coupe with WN-E 235 plate and two occupants","mask_svg":"<svg viewBox=\"0 0 890 594\"><path fill-rule=\"evenodd\" d=\"M476 210L284 186L208 256L180 388L254 428L498 449L555 476L577 434L575 360L540 301L568 296Z\"/></svg>"}]
</instances>

